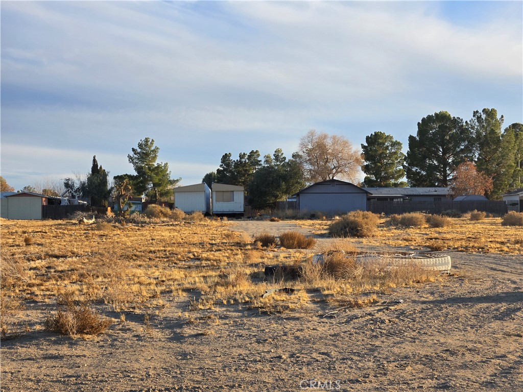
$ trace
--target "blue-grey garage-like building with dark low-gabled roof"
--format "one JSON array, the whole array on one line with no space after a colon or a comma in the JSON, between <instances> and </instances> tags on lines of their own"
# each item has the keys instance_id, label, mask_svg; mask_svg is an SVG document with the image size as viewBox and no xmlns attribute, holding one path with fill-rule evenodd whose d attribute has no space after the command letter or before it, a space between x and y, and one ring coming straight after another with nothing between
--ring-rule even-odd
<instances>
[{"instance_id":1,"label":"blue-grey garage-like building with dark low-gabled roof","mask_svg":"<svg viewBox=\"0 0 523 392\"><path fill-rule=\"evenodd\" d=\"M367 211L369 191L353 183L327 180L296 193L298 210L320 211L326 215L344 214L349 211Z\"/></svg>"}]
</instances>

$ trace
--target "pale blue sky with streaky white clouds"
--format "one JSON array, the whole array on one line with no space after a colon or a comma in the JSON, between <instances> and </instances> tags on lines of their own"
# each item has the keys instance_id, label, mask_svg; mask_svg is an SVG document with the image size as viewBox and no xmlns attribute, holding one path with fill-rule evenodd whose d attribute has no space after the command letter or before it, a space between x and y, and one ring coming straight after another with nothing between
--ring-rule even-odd
<instances>
[{"instance_id":1,"label":"pale blue sky with streaky white clouds","mask_svg":"<svg viewBox=\"0 0 523 392\"><path fill-rule=\"evenodd\" d=\"M408 149L441 110L523 122L523 2L18 2L1 7L1 166L16 190L133 173L181 185L309 130ZM361 176L361 179L363 175Z\"/></svg>"}]
</instances>

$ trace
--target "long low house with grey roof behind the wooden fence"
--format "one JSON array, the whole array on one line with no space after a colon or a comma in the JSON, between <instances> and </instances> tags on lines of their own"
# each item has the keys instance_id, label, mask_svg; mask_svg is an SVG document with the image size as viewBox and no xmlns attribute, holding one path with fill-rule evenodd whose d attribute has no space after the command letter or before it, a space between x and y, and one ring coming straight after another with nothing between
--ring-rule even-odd
<instances>
[{"instance_id":1,"label":"long low house with grey roof behind the wooden fence","mask_svg":"<svg viewBox=\"0 0 523 392\"><path fill-rule=\"evenodd\" d=\"M452 200L450 188L362 188L369 201L445 201Z\"/></svg>"}]
</instances>

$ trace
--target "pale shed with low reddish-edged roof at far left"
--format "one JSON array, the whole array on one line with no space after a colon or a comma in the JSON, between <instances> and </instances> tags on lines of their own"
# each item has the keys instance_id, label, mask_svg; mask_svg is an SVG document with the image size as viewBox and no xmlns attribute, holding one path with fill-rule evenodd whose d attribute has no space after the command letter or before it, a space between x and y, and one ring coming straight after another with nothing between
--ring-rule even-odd
<instances>
[{"instance_id":1,"label":"pale shed with low reddish-edged roof at far left","mask_svg":"<svg viewBox=\"0 0 523 392\"><path fill-rule=\"evenodd\" d=\"M2 217L7 219L42 219L42 206L49 204L49 197L33 192L9 192L1 198ZM4 192L3 192L4 194ZM56 198L54 198L56 199ZM55 202L55 200L52 200Z\"/></svg>"}]
</instances>

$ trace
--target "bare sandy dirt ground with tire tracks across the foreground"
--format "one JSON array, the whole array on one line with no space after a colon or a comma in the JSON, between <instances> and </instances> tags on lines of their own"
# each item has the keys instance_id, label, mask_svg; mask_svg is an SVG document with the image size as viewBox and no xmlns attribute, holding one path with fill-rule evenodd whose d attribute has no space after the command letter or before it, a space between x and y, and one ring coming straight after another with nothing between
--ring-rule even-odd
<instances>
[{"instance_id":1,"label":"bare sandy dirt ground with tire tracks across the foreground","mask_svg":"<svg viewBox=\"0 0 523 392\"><path fill-rule=\"evenodd\" d=\"M188 324L188 295L148 322L126 313L91 340L32 330L2 342L1 388L523 391L523 258L447 254L456 276L362 309L327 314L335 308L313 301L267 316L234 305L191 312L200 321ZM49 306L28 304L24 317L41 320Z\"/></svg>"}]
</instances>

